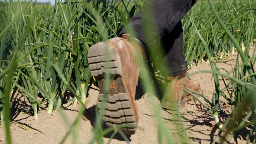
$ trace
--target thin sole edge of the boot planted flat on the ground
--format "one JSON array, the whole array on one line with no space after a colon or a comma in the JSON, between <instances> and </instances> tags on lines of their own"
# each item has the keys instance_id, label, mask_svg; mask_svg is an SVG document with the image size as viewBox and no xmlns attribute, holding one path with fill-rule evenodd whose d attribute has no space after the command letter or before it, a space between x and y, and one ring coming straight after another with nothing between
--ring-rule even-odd
<instances>
[{"instance_id":1,"label":"thin sole edge of the boot planted flat on the ground","mask_svg":"<svg viewBox=\"0 0 256 144\"><path fill-rule=\"evenodd\" d=\"M202 89L200 87L200 89L198 90L198 93L201 93L201 92L202 92ZM195 95L198 97L198 94L195 94ZM180 101L179 110L184 108L188 101L194 100L194 99L195 99L194 96L191 96L191 95L186 96L186 98L184 98L182 101ZM177 110L178 102L169 102L169 101L164 100L162 108L164 108L166 110Z\"/></svg>"}]
</instances>

